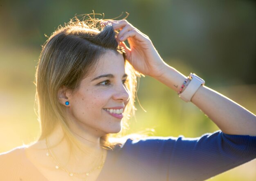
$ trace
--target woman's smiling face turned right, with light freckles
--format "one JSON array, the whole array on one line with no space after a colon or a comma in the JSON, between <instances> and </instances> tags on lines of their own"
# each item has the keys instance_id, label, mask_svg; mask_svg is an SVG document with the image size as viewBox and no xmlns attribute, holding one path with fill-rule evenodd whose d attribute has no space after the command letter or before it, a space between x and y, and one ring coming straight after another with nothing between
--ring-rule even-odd
<instances>
[{"instance_id":1,"label":"woman's smiling face turned right, with light freckles","mask_svg":"<svg viewBox=\"0 0 256 181\"><path fill-rule=\"evenodd\" d=\"M76 127L97 135L121 131L122 112L129 99L126 79L124 57L108 50L68 98L68 116Z\"/></svg>"}]
</instances>

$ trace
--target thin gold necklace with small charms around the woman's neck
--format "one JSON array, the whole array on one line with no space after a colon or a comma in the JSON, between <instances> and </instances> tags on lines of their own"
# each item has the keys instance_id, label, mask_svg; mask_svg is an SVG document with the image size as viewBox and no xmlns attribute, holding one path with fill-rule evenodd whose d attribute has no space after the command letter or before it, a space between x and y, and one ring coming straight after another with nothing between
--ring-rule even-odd
<instances>
[{"instance_id":1,"label":"thin gold necklace with small charms around the woman's neck","mask_svg":"<svg viewBox=\"0 0 256 181\"><path fill-rule=\"evenodd\" d=\"M47 157L50 157L52 159L52 161L54 162L54 164L56 165L55 168L58 170L58 169L61 169L65 172L67 172L67 174L70 176L70 177L73 177L75 175L81 175L81 174L85 174L86 176L89 176L94 170L96 169L100 169L103 167L105 161L103 160L103 149L101 150L101 163L92 168L91 170L89 170L88 172L70 172L69 170L66 170L65 168L63 168L60 164L58 164L54 158L52 157L51 155L51 152L50 152L50 148L49 148L49 143L48 143L48 139L47 137L45 138L45 143L46 143L46 146L47 146L47 153L46 153L46 156ZM54 153L52 152L52 154L54 155ZM54 155L55 159L57 160L57 157Z\"/></svg>"}]
</instances>

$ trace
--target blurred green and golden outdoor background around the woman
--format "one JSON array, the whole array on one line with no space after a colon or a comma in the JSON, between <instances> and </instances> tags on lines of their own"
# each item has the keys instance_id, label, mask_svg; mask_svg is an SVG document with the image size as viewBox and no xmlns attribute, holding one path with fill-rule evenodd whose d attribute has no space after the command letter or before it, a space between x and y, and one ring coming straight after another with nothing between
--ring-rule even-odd
<instances>
[{"instance_id":1,"label":"blurred green and golden outdoor background around the woman","mask_svg":"<svg viewBox=\"0 0 256 181\"><path fill-rule=\"evenodd\" d=\"M33 81L45 35L92 10L105 18L127 11L169 65L186 76L195 72L207 87L256 113L255 1L0 0L0 153L38 137ZM195 105L150 77L140 80L138 98L129 133L199 137L218 130ZM255 170L256 160L209 180L252 181Z\"/></svg>"}]
</instances>

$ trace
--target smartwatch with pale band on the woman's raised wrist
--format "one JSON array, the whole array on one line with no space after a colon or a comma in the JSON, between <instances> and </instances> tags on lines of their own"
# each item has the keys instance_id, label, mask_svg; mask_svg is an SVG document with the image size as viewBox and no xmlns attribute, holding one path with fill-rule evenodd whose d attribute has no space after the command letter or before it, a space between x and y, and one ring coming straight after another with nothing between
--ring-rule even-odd
<instances>
[{"instance_id":1,"label":"smartwatch with pale band on the woman's raised wrist","mask_svg":"<svg viewBox=\"0 0 256 181\"><path fill-rule=\"evenodd\" d=\"M199 89L199 87L205 84L205 81L196 74L190 73L189 79L191 80L189 82L189 85L187 85L186 89L181 94L179 94L179 97L182 98L182 100L184 100L185 102L190 102L191 98Z\"/></svg>"}]
</instances>

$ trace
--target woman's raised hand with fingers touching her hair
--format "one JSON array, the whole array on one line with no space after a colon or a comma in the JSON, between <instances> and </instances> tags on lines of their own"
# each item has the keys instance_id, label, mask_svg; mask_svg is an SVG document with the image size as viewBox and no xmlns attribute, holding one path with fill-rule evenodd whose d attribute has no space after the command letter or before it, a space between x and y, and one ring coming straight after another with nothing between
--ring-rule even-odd
<instances>
[{"instance_id":1,"label":"woman's raised hand with fingers touching her hair","mask_svg":"<svg viewBox=\"0 0 256 181\"><path fill-rule=\"evenodd\" d=\"M157 78L162 76L166 63L162 60L147 35L141 33L127 20L110 20L114 30L120 30L117 34L117 42L124 47L127 60L138 72ZM128 40L130 48L124 43Z\"/></svg>"}]
</instances>

